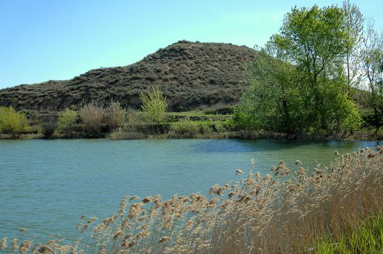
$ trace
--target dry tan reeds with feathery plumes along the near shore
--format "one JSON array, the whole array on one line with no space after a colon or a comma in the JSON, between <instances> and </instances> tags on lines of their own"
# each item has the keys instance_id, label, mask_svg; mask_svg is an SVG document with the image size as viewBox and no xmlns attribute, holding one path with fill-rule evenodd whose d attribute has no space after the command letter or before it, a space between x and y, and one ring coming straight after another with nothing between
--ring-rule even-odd
<instances>
[{"instance_id":1,"label":"dry tan reeds with feathery plumes along the near shore","mask_svg":"<svg viewBox=\"0 0 383 254\"><path fill-rule=\"evenodd\" d=\"M318 251L319 239L341 239L361 219L382 214L382 158L378 146L338 155L310 174L303 167L292 173L281 161L265 176L251 171L239 183L214 185L210 196L125 196L111 217L81 217L72 244L23 242L23 251L15 250L26 253L29 244L31 253ZM2 247L13 248L6 239Z\"/></svg>"}]
</instances>

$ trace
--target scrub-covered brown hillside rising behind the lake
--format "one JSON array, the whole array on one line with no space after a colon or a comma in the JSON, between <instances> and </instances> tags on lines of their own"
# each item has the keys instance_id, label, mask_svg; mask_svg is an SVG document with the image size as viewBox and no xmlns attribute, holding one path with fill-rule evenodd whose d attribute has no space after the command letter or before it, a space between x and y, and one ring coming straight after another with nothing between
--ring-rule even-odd
<instances>
[{"instance_id":1,"label":"scrub-covered brown hillside rising behind the lake","mask_svg":"<svg viewBox=\"0 0 383 254\"><path fill-rule=\"evenodd\" d=\"M139 94L158 85L171 111L233 105L244 87L244 65L256 51L233 44L180 41L125 67L93 69L68 81L0 90L0 105L18 110L60 111L83 101L119 101L138 108Z\"/></svg>"}]
</instances>

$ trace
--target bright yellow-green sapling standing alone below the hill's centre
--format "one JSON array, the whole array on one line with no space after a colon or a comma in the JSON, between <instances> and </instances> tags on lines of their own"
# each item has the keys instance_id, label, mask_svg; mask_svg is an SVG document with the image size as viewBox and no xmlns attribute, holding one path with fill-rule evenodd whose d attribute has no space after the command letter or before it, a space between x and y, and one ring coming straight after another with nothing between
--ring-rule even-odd
<instances>
[{"instance_id":1,"label":"bright yellow-green sapling standing alone below the hill's centre","mask_svg":"<svg viewBox=\"0 0 383 254\"><path fill-rule=\"evenodd\" d=\"M140 99L142 102L141 108L145 112L148 121L155 121L156 123L164 121L167 101L159 87L152 87L152 91L148 92L148 94L141 93Z\"/></svg>"}]
</instances>

